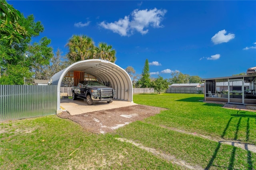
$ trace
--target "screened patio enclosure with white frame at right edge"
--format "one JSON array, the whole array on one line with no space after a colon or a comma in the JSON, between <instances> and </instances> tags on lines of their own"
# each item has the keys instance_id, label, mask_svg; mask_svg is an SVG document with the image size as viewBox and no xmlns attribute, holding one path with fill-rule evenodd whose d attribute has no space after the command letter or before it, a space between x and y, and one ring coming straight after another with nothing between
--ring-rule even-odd
<instances>
[{"instance_id":1,"label":"screened patio enclosure with white frame at right edge","mask_svg":"<svg viewBox=\"0 0 256 170\"><path fill-rule=\"evenodd\" d=\"M204 100L256 105L256 75L201 79Z\"/></svg>"}]
</instances>

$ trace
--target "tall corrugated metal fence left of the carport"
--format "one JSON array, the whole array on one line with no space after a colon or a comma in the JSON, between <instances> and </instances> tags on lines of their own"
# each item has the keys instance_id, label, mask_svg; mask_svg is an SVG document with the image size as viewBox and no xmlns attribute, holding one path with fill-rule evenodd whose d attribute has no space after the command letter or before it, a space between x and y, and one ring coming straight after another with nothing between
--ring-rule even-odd
<instances>
[{"instance_id":1,"label":"tall corrugated metal fence left of the carport","mask_svg":"<svg viewBox=\"0 0 256 170\"><path fill-rule=\"evenodd\" d=\"M55 115L56 85L0 85L0 121Z\"/></svg>"}]
</instances>

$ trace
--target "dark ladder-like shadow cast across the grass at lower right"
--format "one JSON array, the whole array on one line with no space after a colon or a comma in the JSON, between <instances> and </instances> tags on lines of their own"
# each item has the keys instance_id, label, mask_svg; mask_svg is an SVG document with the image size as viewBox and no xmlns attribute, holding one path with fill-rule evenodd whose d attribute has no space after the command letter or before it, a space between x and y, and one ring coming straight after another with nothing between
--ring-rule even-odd
<instances>
[{"instance_id":1,"label":"dark ladder-like shadow cast across the grass at lower right","mask_svg":"<svg viewBox=\"0 0 256 170\"><path fill-rule=\"evenodd\" d=\"M241 120L242 119L245 119L247 118L247 125L246 125L246 142L248 142L249 140L249 133L250 133L250 118L253 117L255 118L256 116L254 115L239 115L238 114L239 111L237 112L237 114L234 114L234 115L231 115L232 117L230 117L221 137L223 138L225 135L226 135L226 131L228 130L229 126L230 126L230 122L232 120L234 120L234 118L236 117L239 117L238 119L238 122L236 124L236 131L235 131L235 134L234 134L234 138L233 140L237 140L238 139L238 131L239 131L239 127L241 126ZM244 112L241 112L241 113L244 113ZM255 121L256 121L256 118L255 118ZM220 149L220 146L221 146L221 143L219 142L218 143L218 146L216 147L216 149L214 150L214 154L212 155L212 158L211 160L209 161L208 165L206 166L205 170L208 170L209 168L211 168L212 166L218 166L218 165L214 165L214 160L215 158L217 157L217 154L218 154L218 151ZM248 163L248 170L252 170L253 169L253 165L252 165L252 152L250 150L248 150L248 144L245 144L245 149L247 150L247 163ZM236 155L236 147L233 146L233 149L232 149L232 153L230 155L230 160L229 160L229 165L228 167L223 167L225 169L228 169L228 170L233 170L234 169L234 161L235 161L235 155Z\"/></svg>"}]
</instances>

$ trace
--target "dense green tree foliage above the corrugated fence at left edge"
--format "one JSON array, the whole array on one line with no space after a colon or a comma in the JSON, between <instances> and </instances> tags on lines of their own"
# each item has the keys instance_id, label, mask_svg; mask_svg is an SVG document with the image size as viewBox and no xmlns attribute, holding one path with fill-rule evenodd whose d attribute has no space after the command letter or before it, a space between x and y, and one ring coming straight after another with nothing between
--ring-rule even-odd
<instances>
[{"instance_id":1,"label":"dense green tree foliage above the corrugated fence at left edge","mask_svg":"<svg viewBox=\"0 0 256 170\"><path fill-rule=\"evenodd\" d=\"M8 12L8 13L6 13ZM31 45L31 38L44 30L34 16L27 18L5 0L1 0L0 83L8 85L32 84L38 67L49 65L53 56L50 39L44 37Z\"/></svg>"}]
</instances>

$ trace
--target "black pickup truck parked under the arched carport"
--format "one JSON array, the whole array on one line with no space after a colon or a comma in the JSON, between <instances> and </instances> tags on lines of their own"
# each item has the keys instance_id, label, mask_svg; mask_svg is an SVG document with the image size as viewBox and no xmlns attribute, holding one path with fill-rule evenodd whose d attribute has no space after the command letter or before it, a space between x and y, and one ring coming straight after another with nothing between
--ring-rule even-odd
<instances>
[{"instance_id":1,"label":"black pickup truck parked under the arched carport","mask_svg":"<svg viewBox=\"0 0 256 170\"><path fill-rule=\"evenodd\" d=\"M115 90L99 81L80 81L77 87L72 87L71 91L73 100L77 97L83 98L88 105L104 101L112 103L115 98Z\"/></svg>"}]
</instances>

